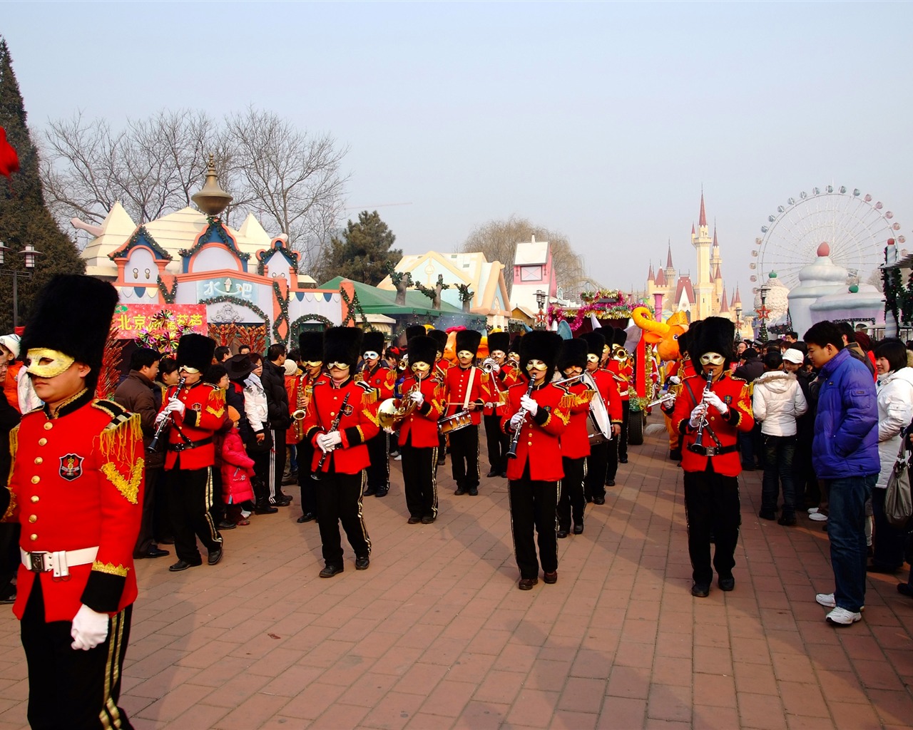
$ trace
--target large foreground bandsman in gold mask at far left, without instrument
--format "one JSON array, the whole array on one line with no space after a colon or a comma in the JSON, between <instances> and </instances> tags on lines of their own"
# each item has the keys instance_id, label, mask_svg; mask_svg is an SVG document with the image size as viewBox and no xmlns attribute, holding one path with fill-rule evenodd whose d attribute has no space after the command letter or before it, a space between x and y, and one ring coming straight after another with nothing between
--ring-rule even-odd
<instances>
[{"instance_id":1,"label":"large foreground bandsman in gold mask at far left, without instrument","mask_svg":"<svg viewBox=\"0 0 913 730\"><path fill-rule=\"evenodd\" d=\"M55 276L22 336L45 404L10 433L4 520L21 524L16 604L35 728L130 728L118 701L136 600L142 517L139 414L94 399L118 295Z\"/></svg>"}]
</instances>

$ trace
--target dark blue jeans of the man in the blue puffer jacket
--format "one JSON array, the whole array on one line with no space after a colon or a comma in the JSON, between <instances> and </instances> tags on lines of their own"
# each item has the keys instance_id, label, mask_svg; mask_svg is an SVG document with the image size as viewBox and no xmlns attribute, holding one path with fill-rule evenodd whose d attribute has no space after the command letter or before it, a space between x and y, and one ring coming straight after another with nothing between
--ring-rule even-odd
<instances>
[{"instance_id":1,"label":"dark blue jeans of the man in the blue puffer jacket","mask_svg":"<svg viewBox=\"0 0 913 730\"><path fill-rule=\"evenodd\" d=\"M866 500L877 479L877 474L869 474L824 480L830 499L827 534L834 600L841 609L858 611L866 605Z\"/></svg>"}]
</instances>

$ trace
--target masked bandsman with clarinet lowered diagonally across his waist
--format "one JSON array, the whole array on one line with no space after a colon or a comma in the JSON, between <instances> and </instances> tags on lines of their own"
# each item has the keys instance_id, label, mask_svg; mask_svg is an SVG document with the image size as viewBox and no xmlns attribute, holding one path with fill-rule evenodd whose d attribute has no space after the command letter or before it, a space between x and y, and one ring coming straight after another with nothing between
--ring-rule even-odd
<instances>
[{"instance_id":1,"label":"masked bandsman with clarinet lowered diagonally across his waist","mask_svg":"<svg viewBox=\"0 0 913 730\"><path fill-rule=\"evenodd\" d=\"M314 383L304 419L304 437L314 446L311 478L317 484L317 525L323 561L320 578L342 572L340 523L355 552L355 569L367 570L371 538L362 516L365 443L380 430L374 389L352 377L362 351L362 330L333 327L323 333L323 358L330 380Z\"/></svg>"}]
</instances>

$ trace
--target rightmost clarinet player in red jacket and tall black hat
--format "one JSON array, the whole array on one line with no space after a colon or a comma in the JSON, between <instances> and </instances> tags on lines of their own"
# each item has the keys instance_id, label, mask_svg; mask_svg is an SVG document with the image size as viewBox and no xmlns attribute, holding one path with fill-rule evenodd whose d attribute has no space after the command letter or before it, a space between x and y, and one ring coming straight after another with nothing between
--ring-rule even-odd
<instances>
[{"instance_id":1,"label":"rightmost clarinet player in red jacket and tall black hat","mask_svg":"<svg viewBox=\"0 0 913 730\"><path fill-rule=\"evenodd\" d=\"M694 333L695 329L692 328ZM703 320L689 343L697 374L682 382L672 420L682 434L687 547L694 585L706 598L713 568L721 590L735 588L732 568L739 540L737 433L754 426L748 383L729 375L735 325L721 317ZM710 537L716 549L710 567Z\"/></svg>"}]
</instances>

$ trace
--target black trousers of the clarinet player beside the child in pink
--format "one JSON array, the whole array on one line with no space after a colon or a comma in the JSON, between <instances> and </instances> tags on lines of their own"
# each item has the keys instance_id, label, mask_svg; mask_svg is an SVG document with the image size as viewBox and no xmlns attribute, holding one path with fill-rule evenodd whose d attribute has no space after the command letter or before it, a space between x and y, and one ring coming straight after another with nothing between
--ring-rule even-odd
<instances>
[{"instance_id":1,"label":"black trousers of the clarinet player beside the child in pink","mask_svg":"<svg viewBox=\"0 0 913 730\"><path fill-rule=\"evenodd\" d=\"M174 468L165 473L165 479L174 529L174 552L178 559L200 565L203 558L196 547L196 537L210 552L222 547L222 536L209 514L213 504L212 467L182 469L178 454Z\"/></svg>"}]
</instances>

